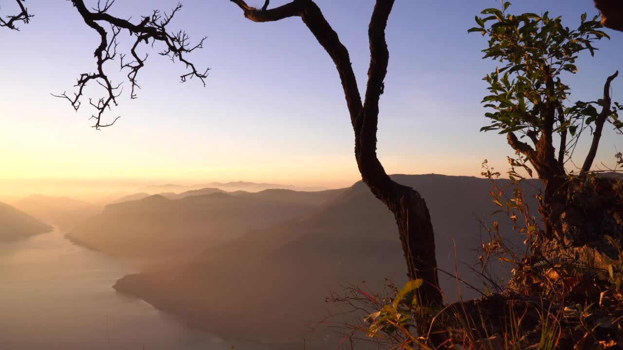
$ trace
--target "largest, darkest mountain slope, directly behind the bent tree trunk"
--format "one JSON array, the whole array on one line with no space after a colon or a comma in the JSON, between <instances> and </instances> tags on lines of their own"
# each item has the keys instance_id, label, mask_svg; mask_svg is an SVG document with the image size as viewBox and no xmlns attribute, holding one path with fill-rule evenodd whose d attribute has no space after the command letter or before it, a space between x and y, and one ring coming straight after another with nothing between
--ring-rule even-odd
<instances>
[{"instance_id":1,"label":"largest, darkest mountain slope, directly behind the bent tree trunk","mask_svg":"<svg viewBox=\"0 0 623 350\"><path fill-rule=\"evenodd\" d=\"M474 263L473 249L482 241L475 215L490 220L497 209L488 194L491 182L435 174L392 177L425 197L439 267L454 273L453 239L459 262ZM509 228L508 222L500 223L500 230ZM506 238L516 244L523 240L518 234ZM460 263L459 275L482 286ZM325 316L329 290L363 280L379 290L383 278L397 284L406 279L394 218L357 182L314 212L207 249L183 267L128 275L115 288L206 329L285 341L301 339L313 325L309 321ZM456 280L443 273L440 278L448 298L454 299ZM464 298L477 295L465 285L461 291Z\"/></svg>"}]
</instances>

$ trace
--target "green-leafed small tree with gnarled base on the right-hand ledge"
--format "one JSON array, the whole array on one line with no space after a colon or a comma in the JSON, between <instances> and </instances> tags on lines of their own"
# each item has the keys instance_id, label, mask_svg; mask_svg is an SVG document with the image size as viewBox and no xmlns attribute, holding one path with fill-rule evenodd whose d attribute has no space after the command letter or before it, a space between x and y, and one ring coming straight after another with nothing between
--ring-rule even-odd
<instances>
[{"instance_id":1,"label":"green-leafed small tree with gnarled base on the right-hand ledge","mask_svg":"<svg viewBox=\"0 0 623 350\"><path fill-rule=\"evenodd\" d=\"M594 43L609 36L600 30L597 17L587 20L583 14L581 24L569 29L561 17L548 12L513 15L506 13L509 6L505 2L502 9L485 9L485 17L475 18L477 27L468 30L486 35L483 58L500 62L483 78L489 85L482 102L489 108L485 116L490 125L481 131L505 134L511 148L536 170L544 187L539 211L546 238L584 244L603 235L604 227L619 232L620 224L604 225L614 220L615 205L598 191L604 180L590 176L604 125L609 123L617 133L623 128L623 106L610 95L619 72L606 78L602 97L590 102L569 102L571 88L564 83L568 74L578 72L578 56L594 55ZM586 135L589 130L592 135ZM574 170L574 150L582 136L592 137L591 147Z\"/></svg>"}]
</instances>

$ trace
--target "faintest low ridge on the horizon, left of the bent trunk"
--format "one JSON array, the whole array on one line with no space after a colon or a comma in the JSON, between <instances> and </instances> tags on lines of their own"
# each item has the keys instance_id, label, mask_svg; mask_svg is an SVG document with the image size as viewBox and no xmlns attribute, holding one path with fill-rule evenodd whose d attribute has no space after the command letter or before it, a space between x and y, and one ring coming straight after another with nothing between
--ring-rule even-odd
<instances>
[{"instance_id":1,"label":"faintest low ridge on the horizon, left of the bent trunk","mask_svg":"<svg viewBox=\"0 0 623 350\"><path fill-rule=\"evenodd\" d=\"M162 192L186 192L194 189L204 189L204 188L217 188L222 191L235 192L235 191L246 191L246 192L259 192L265 189L291 189L293 191L323 191L326 190L326 187L298 187L293 185L283 185L283 184L270 184L270 183L257 183L257 182L247 182L247 181L232 181L232 182L209 182L207 184L197 184L193 186L183 186L176 184L164 184L164 185L155 185L155 186L146 186L138 189L138 192L145 192L148 194L160 194Z\"/></svg>"}]
</instances>

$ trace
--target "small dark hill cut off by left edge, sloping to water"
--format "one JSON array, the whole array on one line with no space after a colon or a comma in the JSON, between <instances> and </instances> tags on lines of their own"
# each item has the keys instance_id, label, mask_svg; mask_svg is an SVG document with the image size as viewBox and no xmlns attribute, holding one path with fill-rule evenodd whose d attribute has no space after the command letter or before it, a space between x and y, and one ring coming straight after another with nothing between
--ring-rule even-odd
<instances>
[{"instance_id":1,"label":"small dark hill cut off by left edge, sloping to water","mask_svg":"<svg viewBox=\"0 0 623 350\"><path fill-rule=\"evenodd\" d=\"M17 240L50 232L46 225L21 210L0 202L0 241Z\"/></svg>"}]
</instances>

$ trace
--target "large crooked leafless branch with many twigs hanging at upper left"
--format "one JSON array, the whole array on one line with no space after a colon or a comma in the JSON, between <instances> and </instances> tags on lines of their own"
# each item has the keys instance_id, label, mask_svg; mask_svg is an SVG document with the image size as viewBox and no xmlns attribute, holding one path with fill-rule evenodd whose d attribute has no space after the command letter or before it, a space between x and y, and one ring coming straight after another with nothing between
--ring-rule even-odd
<instances>
[{"instance_id":1,"label":"large crooked leafless branch with many twigs hanging at upper left","mask_svg":"<svg viewBox=\"0 0 623 350\"><path fill-rule=\"evenodd\" d=\"M159 41L166 45L166 49L159 52L160 55L170 57L173 62L177 59L179 62L183 62L183 64L186 65L189 72L180 76L181 82L186 82L188 78L197 77L201 80L204 86L206 85L204 79L207 77L208 69L204 72L199 72L194 64L189 62L185 57L186 54L193 52L196 49L201 49L206 38L204 37L201 39L196 45L191 45L189 35L186 34L186 32L179 31L172 33L168 32L166 27L171 22L171 19L173 19L173 16L182 8L181 4L178 4L170 14L161 14L159 10L155 10L150 16L143 17L139 24L133 24L128 20L113 17L107 13L108 9L110 9L110 7L114 4L114 0L106 0L103 4L102 0L98 1L97 8L93 7L94 12L90 12L87 9L83 0L70 1L72 1L87 26L93 28L98 32L98 34L100 34L100 45L97 49L95 49L94 54L97 59L97 71L95 73L80 74L80 78L78 78L75 85L78 91L74 93L73 97L69 97L65 92L61 95L54 96L69 100L71 105L74 107L74 110L77 111L81 105L80 99L82 98L84 88L92 80L97 82L98 85L105 89L106 93L105 96L98 98L97 102L89 100L89 105L93 106L93 108L97 110L97 112L91 116L91 118L95 119L95 125L93 125L94 128L99 129L105 126L113 125L119 118L117 116L112 123L103 123L102 121L103 113L106 110L110 110L111 105L117 106L117 97L121 94L121 83L113 85L103 67L106 62L114 60L117 56L117 36L121 29L127 29L130 32L130 35L136 36L135 43L130 49L130 54L134 60L131 62L123 62L125 55L120 55L121 69L130 70L127 77L131 84L131 98L136 98L135 88L140 88L136 80L136 75L138 75L138 71L145 66L145 60L148 57L148 55L145 55L145 57L140 58L136 53L136 49L138 45L143 42L145 44L149 44L150 39L152 44ZM99 22L107 22L107 24L110 25L110 32L106 31L104 27L99 24ZM109 37L110 40L108 40Z\"/></svg>"}]
</instances>

